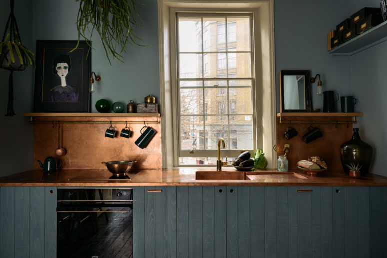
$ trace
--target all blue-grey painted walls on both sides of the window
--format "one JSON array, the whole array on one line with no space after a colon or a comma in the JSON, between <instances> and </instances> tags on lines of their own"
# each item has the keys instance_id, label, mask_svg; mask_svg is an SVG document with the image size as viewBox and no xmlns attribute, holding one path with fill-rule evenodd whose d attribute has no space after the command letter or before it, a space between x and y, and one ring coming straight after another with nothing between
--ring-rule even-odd
<instances>
[{"instance_id":1,"label":"all blue-grey painted walls on both sides of the window","mask_svg":"<svg viewBox=\"0 0 387 258\"><path fill-rule=\"evenodd\" d=\"M136 31L148 46L129 46L123 55L125 63L112 60L112 65L109 65L99 38L93 36L92 69L102 76L102 81L95 84L96 92L91 96L92 112L96 112L94 105L100 98L124 103L133 99L139 103L146 95L152 94L159 102L157 3L155 0L141 2L145 3L139 9L145 28ZM19 0L16 3L23 7L16 7L16 17L24 44L29 48L35 49L36 39L77 39L74 23L78 2ZM275 0L276 81L278 87L280 70L306 69L312 75L321 75L324 90L335 90L341 96L356 96L355 111L364 113L357 126L363 140L373 145L376 153L372 172L387 176L382 167L383 152L378 152L387 144L383 134L387 123L384 119L386 104L383 102L387 91L383 76L387 43L351 57L331 56L326 49L329 30L335 29L336 24L360 8L376 7L377 4L375 0ZM0 9L0 28L4 27L8 11L8 6ZM6 111L8 74L0 69L2 113ZM32 168L32 127L22 114L32 111L33 76L31 68L15 73L17 116L0 115L0 161L3 164L0 175ZM313 107L322 109L322 97L315 95L316 87L312 85ZM278 99L277 96L277 111Z\"/></svg>"}]
</instances>

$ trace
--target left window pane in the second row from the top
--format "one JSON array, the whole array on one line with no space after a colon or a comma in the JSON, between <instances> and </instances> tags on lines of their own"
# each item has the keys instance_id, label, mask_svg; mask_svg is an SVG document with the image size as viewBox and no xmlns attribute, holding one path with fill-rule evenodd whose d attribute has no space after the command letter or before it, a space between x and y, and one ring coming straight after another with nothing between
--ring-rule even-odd
<instances>
[{"instance_id":1,"label":"left window pane in the second row from the top","mask_svg":"<svg viewBox=\"0 0 387 258\"><path fill-rule=\"evenodd\" d=\"M179 57L179 78L202 77L202 54L180 54Z\"/></svg>"}]
</instances>

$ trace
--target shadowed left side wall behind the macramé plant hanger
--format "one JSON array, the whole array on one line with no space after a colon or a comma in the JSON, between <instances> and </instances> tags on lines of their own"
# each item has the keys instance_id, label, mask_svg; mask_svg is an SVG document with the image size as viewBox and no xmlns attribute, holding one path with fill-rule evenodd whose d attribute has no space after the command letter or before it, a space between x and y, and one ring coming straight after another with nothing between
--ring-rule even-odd
<instances>
[{"instance_id":1,"label":"shadowed left side wall behind the macram\u00e9 plant hanger","mask_svg":"<svg viewBox=\"0 0 387 258\"><path fill-rule=\"evenodd\" d=\"M32 2L18 0L15 16L21 40L33 49L32 40ZM9 1L2 1L0 8L0 40L10 12ZM33 127L24 112L32 110L33 73L31 66L24 71L13 72L14 110L16 116L4 116L8 103L9 71L0 69L0 176L29 170L33 166Z\"/></svg>"}]
</instances>

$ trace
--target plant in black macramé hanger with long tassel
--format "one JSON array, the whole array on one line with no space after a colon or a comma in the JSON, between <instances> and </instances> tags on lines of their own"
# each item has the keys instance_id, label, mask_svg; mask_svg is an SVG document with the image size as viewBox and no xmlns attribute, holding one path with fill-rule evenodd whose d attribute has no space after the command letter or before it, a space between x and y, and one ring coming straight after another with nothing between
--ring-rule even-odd
<instances>
[{"instance_id":1,"label":"plant in black macram\u00e9 hanger with long tassel","mask_svg":"<svg viewBox=\"0 0 387 258\"><path fill-rule=\"evenodd\" d=\"M21 43L19 28L15 18L14 0L10 0L11 13L0 41L0 68L10 70L8 105L6 116L14 116L13 110L13 71L23 71L28 63L35 67L34 54ZM9 29L9 30L8 30Z\"/></svg>"}]
</instances>

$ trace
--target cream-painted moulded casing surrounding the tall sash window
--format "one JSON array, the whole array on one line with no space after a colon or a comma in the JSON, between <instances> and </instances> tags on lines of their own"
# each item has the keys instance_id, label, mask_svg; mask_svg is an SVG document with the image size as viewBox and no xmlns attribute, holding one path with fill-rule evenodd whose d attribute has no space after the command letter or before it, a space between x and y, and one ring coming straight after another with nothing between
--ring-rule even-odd
<instances>
[{"instance_id":1,"label":"cream-painted moulded casing surrounding the tall sash window","mask_svg":"<svg viewBox=\"0 0 387 258\"><path fill-rule=\"evenodd\" d=\"M254 73L257 79L253 98L258 105L254 113L258 136L256 146L264 149L268 167L274 168L276 154L272 144L276 139L276 89L274 64L274 0L158 0L159 19L159 64L160 64L160 113L162 134L163 168L178 166L178 144L174 135L179 135L174 114L175 103L173 72L176 71L176 45L171 35L176 35L176 12L246 12L254 15ZM259 85L259 86L258 86ZM177 138L176 138L177 139ZM223 152L222 152L222 156Z\"/></svg>"}]
</instances>

